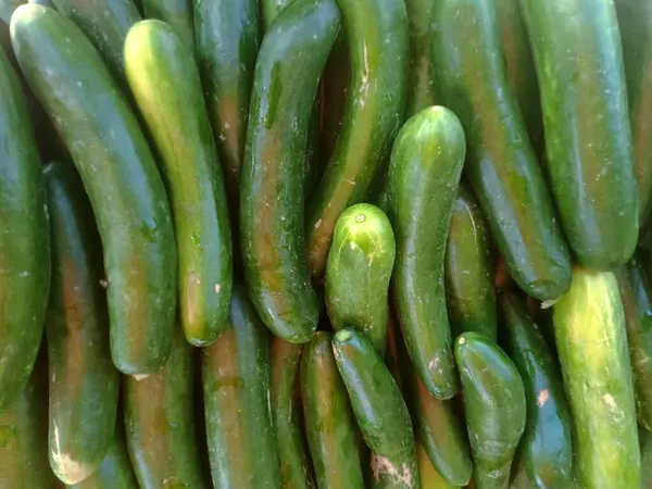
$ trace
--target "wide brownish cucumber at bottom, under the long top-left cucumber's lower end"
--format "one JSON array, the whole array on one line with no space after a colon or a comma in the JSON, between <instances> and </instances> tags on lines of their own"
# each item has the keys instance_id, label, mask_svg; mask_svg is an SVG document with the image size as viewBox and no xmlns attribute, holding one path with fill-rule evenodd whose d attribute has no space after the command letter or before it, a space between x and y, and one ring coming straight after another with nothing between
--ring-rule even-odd
<instances>
[{"instance_id":1,"label":"wide brownish cucumber at bottom, under the long top-left cucumber's lower end","mask_svg":"<svg viewBox=\"0 0 652 489\"><path fill-rule=\"evenodd\" d=\"M195 430L193 351L178 325L161 371L124 377L127 449L142 489L206 487Z\"/></svg>"}]
</instances>

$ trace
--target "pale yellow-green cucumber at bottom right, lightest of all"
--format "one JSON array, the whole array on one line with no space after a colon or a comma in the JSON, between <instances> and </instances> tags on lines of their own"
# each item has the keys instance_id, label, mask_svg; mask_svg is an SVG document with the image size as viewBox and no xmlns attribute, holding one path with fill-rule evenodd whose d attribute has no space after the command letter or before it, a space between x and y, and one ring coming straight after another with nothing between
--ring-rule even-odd
<instances>
[{"instance_id":1,"label":"pale yellow-green cucumber at bottom right, lightest of all","mask_svg":"<svg viewBox=\"0 0 652 489\"><path fill-rule=\"evenodd\" d=\"M553 322L582 487L638 488L634 387L614 274L575 268L570 289L553 308Z\"/></svg>"}]
</instances>

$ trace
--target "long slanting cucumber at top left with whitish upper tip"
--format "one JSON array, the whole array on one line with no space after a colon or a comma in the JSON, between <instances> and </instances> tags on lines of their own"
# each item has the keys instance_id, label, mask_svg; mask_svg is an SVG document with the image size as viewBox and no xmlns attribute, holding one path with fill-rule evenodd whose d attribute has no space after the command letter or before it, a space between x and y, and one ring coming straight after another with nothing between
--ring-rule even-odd
<instances>
[{"instance_id":1,"label":"long slanting cucumber at top left with whitish upper tip","mask_svg":"<svg viewBox=\"0 0 652 489\"><path fill-rule=\"evenodd\" d=\"M52 9L22 5L11 29L23 73L71 151L93 209L113 363L124 374L153 373L172 343L177 261L165 188L147 140L72 21Z\"/></svg>"}]
</instances>

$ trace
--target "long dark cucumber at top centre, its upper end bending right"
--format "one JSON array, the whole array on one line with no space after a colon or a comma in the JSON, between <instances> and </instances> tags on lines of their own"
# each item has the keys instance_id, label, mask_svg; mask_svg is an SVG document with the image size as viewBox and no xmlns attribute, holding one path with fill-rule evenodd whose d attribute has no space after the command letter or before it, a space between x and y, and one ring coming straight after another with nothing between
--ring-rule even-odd
<instances>
[{"instance_id":1,"label":"long dark cucumber at top centre, its upper end bending right","mask_svg":"<svg viewBox=\"0 0 652 489\"><path fill-rule=\"evenodd\" d=\"M302 152L338 28L333 0L288 7L265 34L251 98L240 185L244 278L263 323L297 343L310 340L318 319L303 240Z\"/></svg>"}]
</instances>

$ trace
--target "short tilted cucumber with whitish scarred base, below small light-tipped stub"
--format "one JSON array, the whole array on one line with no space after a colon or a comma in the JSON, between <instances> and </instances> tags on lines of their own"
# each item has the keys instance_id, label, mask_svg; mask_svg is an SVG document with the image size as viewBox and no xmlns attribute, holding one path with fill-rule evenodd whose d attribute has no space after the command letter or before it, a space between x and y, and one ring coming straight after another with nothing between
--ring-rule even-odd
<instances>
[{"instance_id":1,"label":"short tilted cucumber with whitish scarred base, below small light-tipped stub","mask_svg":"<svg viewBox=\"0 0 652 489\"><path fill-rule=\"evenodd\" d=\"M335 334L333 352L364 441L372 449L372 487L419 487L410 413L383 358L363 333L352 328Z\"/></svg>"}]
</instances>

